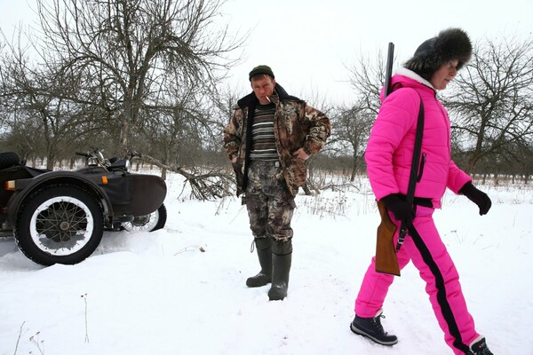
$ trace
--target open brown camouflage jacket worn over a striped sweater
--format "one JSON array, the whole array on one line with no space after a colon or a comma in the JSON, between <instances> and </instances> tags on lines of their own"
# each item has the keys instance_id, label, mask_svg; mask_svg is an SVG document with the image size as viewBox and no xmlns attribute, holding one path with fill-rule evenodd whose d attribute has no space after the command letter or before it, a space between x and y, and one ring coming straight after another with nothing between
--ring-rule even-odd
<instances>
[{"instance_id":1,"label":"open brown camouflage jacket worn over a striped sweater","mask_svg":"<svg viewBox=\"0 0 533 355\"><path fill-rule=\"evenodd\" d=\"M275 105L274 136L277 153L283 170L283 176L289 192L295 196L298 187L306 182L306 161L294 158L299 148L306 154L318 153L330 136L330 120L325 114L305 101L290 96L278 83L274 95L270 98ZM258 104L255 94L245 96L237 101L231 121L224 129L224 146L227 157L237 157L237 196L246 189L249 155L251 149L251 124L255 107ZM249 134L250 133L250 134ZM242 174L239 178L239 174Z\"/></svg>"}]
</instances>

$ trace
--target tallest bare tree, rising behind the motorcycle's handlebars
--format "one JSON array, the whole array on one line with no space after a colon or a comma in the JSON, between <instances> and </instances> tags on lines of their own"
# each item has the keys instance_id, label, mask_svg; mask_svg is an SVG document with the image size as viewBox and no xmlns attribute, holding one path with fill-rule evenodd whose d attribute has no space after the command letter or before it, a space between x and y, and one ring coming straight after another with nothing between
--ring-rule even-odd
<instances>
[{"instance_id":1,"label":"tallest bare tree, rising behind the motorcycle's handlebars","mask_svg":"<svg viewBox=\"0 0 533 355\"><path fill-rule=\"evenodd\" d=\"M42 53L55 53L61 72L98 88L94 105L120 122L121 154L142 112L168 77L212 87L231 65L230 39L215 23L221 2L203 0L37 0Z\"/></svg>"}]
</instances>

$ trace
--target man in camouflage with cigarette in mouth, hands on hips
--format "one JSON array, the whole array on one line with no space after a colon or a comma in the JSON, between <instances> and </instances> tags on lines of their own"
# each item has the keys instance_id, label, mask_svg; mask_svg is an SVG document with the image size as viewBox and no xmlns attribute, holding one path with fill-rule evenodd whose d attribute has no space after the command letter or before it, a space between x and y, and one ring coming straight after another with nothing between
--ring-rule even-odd
<instances>
[{"instance_id":1,"label":"man in camouflage with cigarette in mouth, hands on hips","mask_svg":"<svg viewBox=\"0 0 533 355\"><path fill-rule=\"evenodd\" d=\"M237 102L224 143L237 176L237 196L246 196L261 265L246 284L272 282L268 296L281 300L289 282L294 197L306 182L306 159L330 135L330 120L287 94L270 67L254 67L249 78L253 92Z\"/></svg>"}]
</instances>

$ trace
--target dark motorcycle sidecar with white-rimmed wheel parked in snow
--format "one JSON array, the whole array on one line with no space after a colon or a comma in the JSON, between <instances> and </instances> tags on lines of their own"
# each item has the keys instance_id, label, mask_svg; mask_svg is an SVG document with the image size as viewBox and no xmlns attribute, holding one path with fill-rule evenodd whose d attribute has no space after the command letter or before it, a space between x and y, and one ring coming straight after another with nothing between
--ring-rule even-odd
<instances>
[{"instance_id":1,"label":"dark motorcycle sidecar with white-rimmed wheel parked in snow","mask_svg":"<svg viewBox=\"0 0 533 355\"><path fill-rule=\"evenodd\" d=\"M99 246L105 229L147 224L152 215L152 230L164 225L161 177L99 166L37 170L13 154L0 153L0 223L37 264L80 263Z\"/></svg>"}]
</instances>

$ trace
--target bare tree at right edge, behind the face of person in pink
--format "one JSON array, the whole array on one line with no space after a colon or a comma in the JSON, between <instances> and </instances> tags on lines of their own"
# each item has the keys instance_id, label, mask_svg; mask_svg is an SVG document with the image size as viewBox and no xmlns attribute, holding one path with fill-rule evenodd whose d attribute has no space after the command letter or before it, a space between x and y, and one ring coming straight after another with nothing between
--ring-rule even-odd
<instances>
[{"instance_id":1,"label":"bare tree at right edge, behind the face of person in pink","mask_svg":"<svg viewBox=\"0 0 533 355\"><path fill-rule=\"evenodd\" d=\"M533 138L533 42L487 40L455 79L443 101L449 108L457 147L471 172L483 159L520 159L517 147Z\"/></svg>"}]
</instances>

